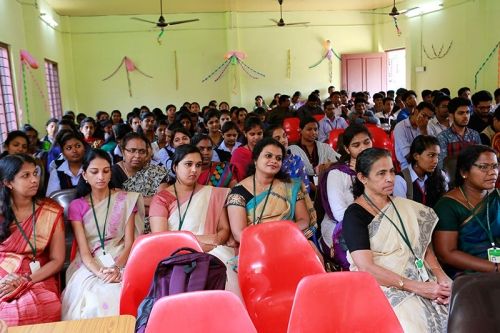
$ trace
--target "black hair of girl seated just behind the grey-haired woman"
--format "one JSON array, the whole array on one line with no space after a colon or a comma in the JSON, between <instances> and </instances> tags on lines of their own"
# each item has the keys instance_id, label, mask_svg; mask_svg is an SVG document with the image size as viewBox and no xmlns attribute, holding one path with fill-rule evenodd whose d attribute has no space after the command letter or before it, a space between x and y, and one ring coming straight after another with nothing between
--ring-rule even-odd
<instances>
[{"instance_id":1,"label":"black hair of girl seated just behind the grey-haired woman","mask_svg":"<svg viewBox=\"0 0 500 333\"><path fill-rule=\"evenodd\" d=\"M432 146L439 146L439 141L434 136L419 135L413 140L410 147L410 153L406 156L406 160L412 166L417 164L415 154L422 154L426 149ZM415 168L414 168L415 169ZM425 193L427 195L427 205L434 206L439 198L446 193L446 179L439 167L436 167L433 172L427 173L427 181L425 182Z\"/></svg>"}]
</instances>

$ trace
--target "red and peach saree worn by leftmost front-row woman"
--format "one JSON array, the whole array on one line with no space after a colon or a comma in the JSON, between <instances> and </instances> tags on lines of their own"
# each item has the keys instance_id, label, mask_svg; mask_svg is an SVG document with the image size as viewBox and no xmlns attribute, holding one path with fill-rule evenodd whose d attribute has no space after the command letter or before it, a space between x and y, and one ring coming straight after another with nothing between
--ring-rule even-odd
<instances>
[{"instance_id":1,"label":"red and peach saree worn by leftmost front-row woman","mask_svg":"<svg viewBox=\"0 0 500 333\"><path fill-rule=\"evenodd\" d=\"M64 228L63 210L53 201L43 200L35 211L36 259L43 267L49 259L49 247L56 227ZM33 239L32 216L21 222L26 235ZM12 223L11 235L0 243L0 279L10 273L31 273L32 252L17 226ZM55 276L28 283L9 301L0 302L0 318L8 326L30 325L61 320L59 284Z\"/></svg>"}]
</instances>

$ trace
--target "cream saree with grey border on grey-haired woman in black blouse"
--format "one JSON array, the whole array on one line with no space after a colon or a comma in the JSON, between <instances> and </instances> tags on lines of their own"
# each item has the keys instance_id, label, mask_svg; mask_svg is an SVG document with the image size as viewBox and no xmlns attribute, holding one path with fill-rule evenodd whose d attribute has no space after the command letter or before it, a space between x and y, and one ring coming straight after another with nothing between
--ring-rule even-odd
<instances>
[{"instance_id":1,"label":"cream saree with grey border on grey-haired woman in black blouse","mask_svg":"<svg viewBox=\"0 0 500 333\"><path fill-rule=\"evenodd\" d=\"M417 202L395 197L392 199L401 215L410 243L415 255L424 258L431 241L432 231L438 221L436 213ZM394 223L400 227L397 213L391 204L382 209ZM368 225L370 249L373 262L407 279L421 281L415 267L415 258L403 241L396 228L379 213ZM351 263L351 271L358 268L352 261L350 253L347 258ZM431 280L435 280L427 266ZM448 308L430 299L396 288L381 287L387 296L405 333L446 332Z\"/></svg>"}]
</instances>

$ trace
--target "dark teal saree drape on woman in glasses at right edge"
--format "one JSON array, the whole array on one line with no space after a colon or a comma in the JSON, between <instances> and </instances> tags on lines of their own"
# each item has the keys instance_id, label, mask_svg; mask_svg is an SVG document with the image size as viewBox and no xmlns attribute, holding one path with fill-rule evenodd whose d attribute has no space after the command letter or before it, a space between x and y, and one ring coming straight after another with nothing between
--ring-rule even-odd
<instances>
[{"instance_id":1,"label":"dark teal saree drape on woman in glasses at right edge","mask_svg":"<svg viewBox=\"0 0 500 333\"><path fill-rule=\"evenodd\" d=\"M457 203L458 204L458 203ZM458 232L458 249L474 257L488 260L488 248L491 242L488 234L479 221L487 228L489 220L493 238L500 245L500 190L493 190L471 212L471 215L460 225Z\"/></svg>"}]
</instances>

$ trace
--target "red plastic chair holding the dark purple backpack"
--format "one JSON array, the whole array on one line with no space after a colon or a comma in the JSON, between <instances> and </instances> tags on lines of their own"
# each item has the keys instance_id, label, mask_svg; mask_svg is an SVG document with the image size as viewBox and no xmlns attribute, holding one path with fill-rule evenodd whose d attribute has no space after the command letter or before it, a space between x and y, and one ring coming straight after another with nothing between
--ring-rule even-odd
<instances>
[{"instance_id":1,"label":"red plastic chair holding the dark purple backpack","mask_svg":"<svg viewBox=\"0 0 500 333\"><path fill-rule=\"evenodd\" d=\"M123 274L120 314L137 316L137 307L148 293L158 262L180 247L203 251L188 231L165 231L137 237Z\"/></svg>"}]
</instances>

